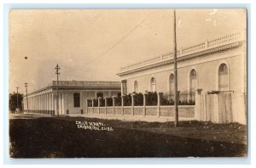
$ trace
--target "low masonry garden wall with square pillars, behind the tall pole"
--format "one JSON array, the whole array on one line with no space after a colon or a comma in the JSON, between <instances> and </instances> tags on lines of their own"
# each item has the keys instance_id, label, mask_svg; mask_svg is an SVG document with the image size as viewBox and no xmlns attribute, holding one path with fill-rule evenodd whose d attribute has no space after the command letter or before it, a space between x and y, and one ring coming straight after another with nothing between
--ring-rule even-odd
<instances>
[{"instance_id":1,"label":"low masonry garden wall with square pillars, behind the tall pole","mask_svg":"<svg viewBox=\"0 0 256 168\"><path fill-rule=\"evenodd\" d=\"M135 94L131 95L131 98L125 100L125 96L112 98L91 98L86 99L86 110L87 114L98 114L98 115L137 115L137 116L162 116L162 117L173 117L174 106L173 105L162 105L162 92L158 92L156 103L148 105L147 93L140 96L142 100L135 97ZM102 101L104 99L104 101ZM120 104L117 103L118 100ZM139 102L142 102L143 105ZM103 106L103 105L104 106ZM129 104L129 105L127 105ZM194 118L195 117L195 105L179 105L178 115L183 118Z\"/></svg>"}]
</instances>

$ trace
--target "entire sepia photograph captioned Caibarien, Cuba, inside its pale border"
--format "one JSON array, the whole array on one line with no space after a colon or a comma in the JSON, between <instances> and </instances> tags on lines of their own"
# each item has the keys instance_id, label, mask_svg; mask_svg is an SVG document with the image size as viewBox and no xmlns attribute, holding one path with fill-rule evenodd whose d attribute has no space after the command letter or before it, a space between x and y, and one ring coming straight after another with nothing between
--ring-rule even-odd
<instances>
[{"instance_id":1,"label":"entire sepia photograph captioned Caibarien, Cuba, inside its pale border","mask_svg":"<svg viewBox=\"0 0 256 168\"><path fill-rule=\"evenodd\" d=\"M246 8L8 21L9 158L247 157Z\"/></svg>"}]
</instances>

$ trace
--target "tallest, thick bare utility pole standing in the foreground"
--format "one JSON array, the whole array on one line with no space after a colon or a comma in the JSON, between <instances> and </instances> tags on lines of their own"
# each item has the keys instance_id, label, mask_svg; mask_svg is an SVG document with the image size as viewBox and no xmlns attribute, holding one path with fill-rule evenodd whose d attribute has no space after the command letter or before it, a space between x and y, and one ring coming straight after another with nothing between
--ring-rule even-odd
<instances>
[{"instance_id":1,"label":"tallest, thick bare utility pole standing in the foreground","mask_svg":"<svg viewBox=\"0 0 256 168\"><path fill-rule=\"evenodd\" d=\"M176 10L173 12L173 64L174 64L174 125L178 126L177 96L177 42L176 42Z\"/></svg>"}]
</instances>

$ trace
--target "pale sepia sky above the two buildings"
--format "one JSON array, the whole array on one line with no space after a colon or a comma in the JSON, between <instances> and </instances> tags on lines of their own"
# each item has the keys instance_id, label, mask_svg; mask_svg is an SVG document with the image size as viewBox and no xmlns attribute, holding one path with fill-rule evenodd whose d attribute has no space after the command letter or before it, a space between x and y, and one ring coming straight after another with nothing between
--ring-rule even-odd
<instances>
[{"instance_id":1,"label":"pale sepia sky above the two buildings","mask_svg":"<svg viewBox=\"0 0 256 168\"><path fill-rule=\"evenodd\" d=\"M243 31L244 9L177 9L177 48ZM9 12L9 92L56 80L119 81L119 68L172 51L172 9ZM27 57L27 59L25 59Z\"/></svg>"}]
</instances>

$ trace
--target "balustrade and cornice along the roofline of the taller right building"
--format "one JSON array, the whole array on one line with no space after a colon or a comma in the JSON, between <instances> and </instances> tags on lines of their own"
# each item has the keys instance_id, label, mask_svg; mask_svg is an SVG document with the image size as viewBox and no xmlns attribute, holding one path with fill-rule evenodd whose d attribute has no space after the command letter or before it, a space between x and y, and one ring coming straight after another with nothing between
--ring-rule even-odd
<instances>
[{"instance_id":1,"label":"balustrade and cornice along the roofline of the taller right building","mask_svg":"<svg viewBox=\"0 0 256 168\"><path fill-rule=\"evenodd\" d=\"M196 59L208 54L230 51L230 49L238 48L245 41L245 37L241 33L233 33L207 42L199 42L187 48L177 50L177 62L188 59ZM173 64L173 53L166 53L160 56L143 60L135 64L130 64L121 68L121 72L117 76L125 76L137 71L148 70L165 64Z\"/></svg>"}]
</instances>

